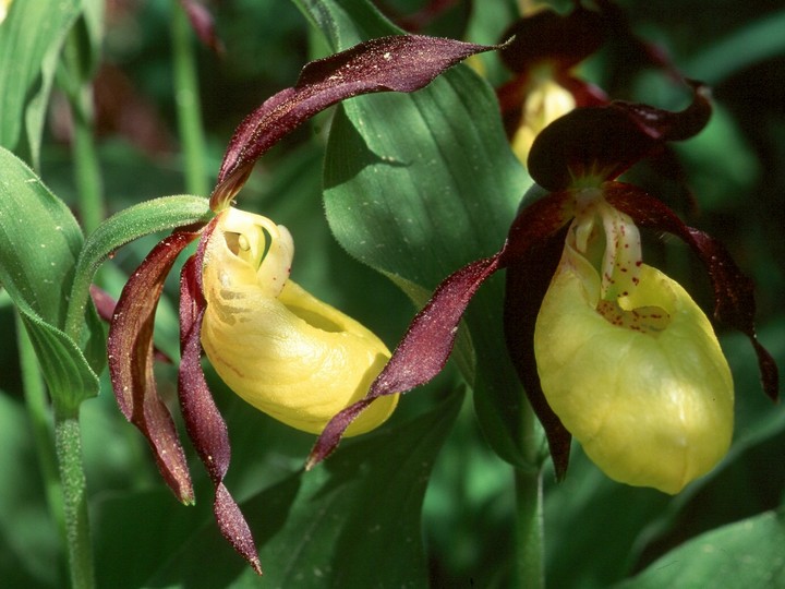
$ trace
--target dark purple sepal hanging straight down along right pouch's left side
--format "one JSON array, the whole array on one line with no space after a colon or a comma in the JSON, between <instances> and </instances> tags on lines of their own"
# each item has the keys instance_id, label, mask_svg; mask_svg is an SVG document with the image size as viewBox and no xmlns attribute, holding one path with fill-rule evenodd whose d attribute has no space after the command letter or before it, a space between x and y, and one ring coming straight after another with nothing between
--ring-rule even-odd
<instances>
[{"instance_id":1,"label":"dark purple sepal hanging straight down along right pouch's left side","mask_svg":"<svg viewBox=\"0 0 785 589\"><path fill-rule=\"evenodd\" d=\"M555 192L521 209L507 237L502 262L505 281L504 327L507 352L529 404L542 423L557 480L569 464L572 436L545 399L534 357L534 325L575 216L571 192Z\"/></svg>"}]
</instances>

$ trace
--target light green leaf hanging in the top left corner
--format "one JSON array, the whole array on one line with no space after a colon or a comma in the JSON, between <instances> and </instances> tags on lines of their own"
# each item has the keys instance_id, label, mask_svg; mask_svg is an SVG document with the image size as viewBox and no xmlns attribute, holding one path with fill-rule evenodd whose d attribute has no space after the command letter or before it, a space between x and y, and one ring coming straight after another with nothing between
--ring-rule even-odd
<instances>
[{"instance_id":1,"label":"light green leaf hanging in the top left corner","mask_svg":"<svg viewBox=\"0 0 785 589\"><path fill-rule=\"evenodd\" d=\"M13 2L0 26L0 146L16 149L22 125L37 160L57 57L81 0Z\"/></svg>"}]
</instances>

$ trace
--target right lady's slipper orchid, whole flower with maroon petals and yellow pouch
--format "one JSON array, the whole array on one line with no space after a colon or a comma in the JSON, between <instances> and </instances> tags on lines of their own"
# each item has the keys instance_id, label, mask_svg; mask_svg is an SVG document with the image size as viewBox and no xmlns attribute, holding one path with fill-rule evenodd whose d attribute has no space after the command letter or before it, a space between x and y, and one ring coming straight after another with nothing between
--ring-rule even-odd
<instances>
[{"instance_id":1,"label":"right lady's slipper orchid, whole flower with maroon petals and yellow pouch","mask_svg":"<svg viewBox=\"0 0 785 589\"><path fill-rule=\"evenodd\" d=\"M476 289L506 268L507 349L564 477L571 436L611 478L667 493L708 472L733 430L733 383L705 315L674 280L645 265L639 227L683 239L706 266L715 317L758 353L765 393L778 375L754 334L752 285L725 249L641 189L614 181L668 141L709 120L708 91L668 112L645 105L587 107L548 125L529 156L551 193L521 209L502 250L459 269L418 314L369 396L328 424L310 458L381 396L427 382L451 351Z\"/></svg>"}]
</instances>

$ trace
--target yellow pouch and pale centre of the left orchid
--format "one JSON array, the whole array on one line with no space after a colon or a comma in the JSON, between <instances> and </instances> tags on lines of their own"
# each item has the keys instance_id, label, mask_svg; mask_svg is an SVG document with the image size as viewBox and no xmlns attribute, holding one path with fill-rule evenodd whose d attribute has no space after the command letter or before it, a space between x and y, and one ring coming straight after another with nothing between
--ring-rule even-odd
<instances>
[{"instance_id":1,"label":"yellow pouch and pale centre of the left orchid","mask_svg":"<svg viewBox=\"0 0 785 589\"><path fill-rule=\"evenodd\" d=\"M311 433L360 400L390 352L373 333L289 279L289 231L259 215L229 208L205 250L207 301L202 346L240 397ZM374 401L350 426L381 425L398 395Z\"/></svg>"}]
</instances>

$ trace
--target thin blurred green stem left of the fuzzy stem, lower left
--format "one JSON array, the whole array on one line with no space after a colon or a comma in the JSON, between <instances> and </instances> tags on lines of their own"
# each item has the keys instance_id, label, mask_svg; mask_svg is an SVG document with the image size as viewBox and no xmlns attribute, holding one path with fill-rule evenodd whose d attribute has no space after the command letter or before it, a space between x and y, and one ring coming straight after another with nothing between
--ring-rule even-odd
<instances>
[{"instance_id":1,"label":"thin blurred green stem left of the fuzzy stem, lower left","mask_svg":"<svg viewBox=\"0 0 785 589\"><path fill-rule=\"evenodd\" d=\"M16 335L22 368L22 387L24 389L25 405L31 420L33 440L38 455L38 466L44 480L44 491L49 513L55 526L60 532L63 546L65 539L65 515L63 507L62 486L58 473L57 456L50 421L49 404L47 402L46 387L40 375L40 368L36 359L35 349L27 336L21 318L17 315Z\"/></svg>"}]
</instances>

